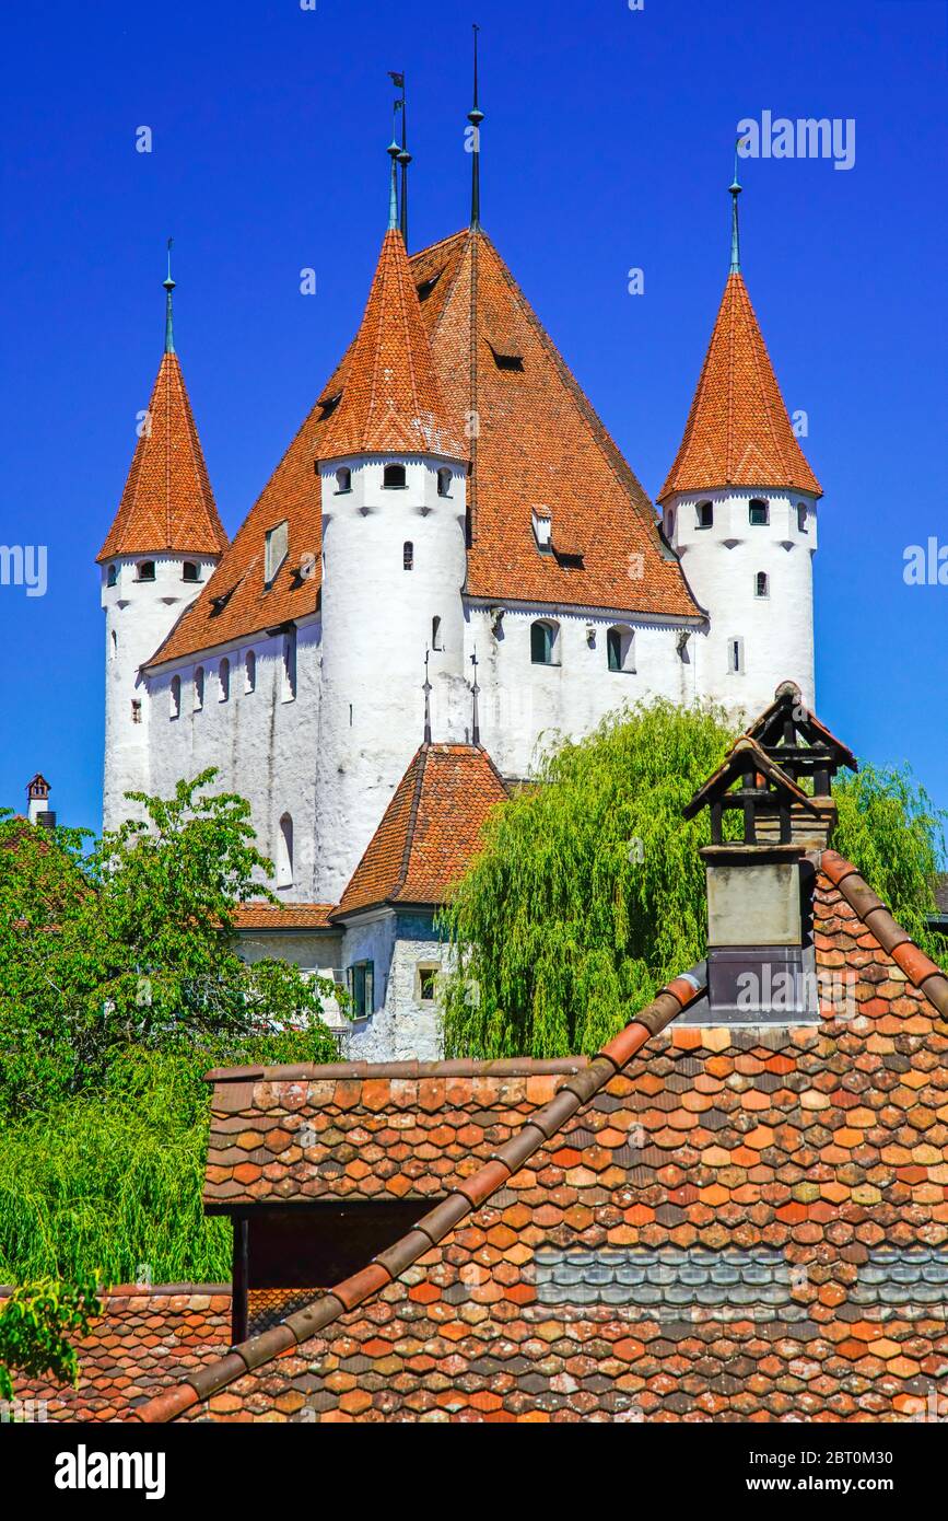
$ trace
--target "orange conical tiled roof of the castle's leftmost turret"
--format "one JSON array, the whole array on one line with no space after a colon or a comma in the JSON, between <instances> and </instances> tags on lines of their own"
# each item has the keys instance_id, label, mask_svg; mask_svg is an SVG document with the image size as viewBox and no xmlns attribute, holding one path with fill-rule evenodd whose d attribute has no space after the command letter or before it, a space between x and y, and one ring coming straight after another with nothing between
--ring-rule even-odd
<instances>
[{"instance_id":1,"label":"orange conical tiled roof of the castle's leftmost turret","mask_svg":"<svg viewBox=\"0 0 948 1521\"><path fill-rule=\"evenodd\" d=\"M214 505L176 353L161 356L146 421L118 511L97 558L223 554L228 537Z\"/></svg>"}]
</instances>

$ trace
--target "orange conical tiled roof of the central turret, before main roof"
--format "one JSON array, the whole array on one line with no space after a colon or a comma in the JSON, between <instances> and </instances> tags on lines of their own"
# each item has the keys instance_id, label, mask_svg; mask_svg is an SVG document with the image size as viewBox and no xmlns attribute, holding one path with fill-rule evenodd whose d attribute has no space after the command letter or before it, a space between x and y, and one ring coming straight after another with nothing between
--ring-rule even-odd
<instances>
[{"instance_id":1,"label":"orange conical tiled roof of the central turret, before main roof","mask_svg":"<svg viewBox=\"0 0 948 1521\"><path fill-rule=\"evenodd\" d=\"M321 458L401 452L468 456L462 418L448 415L434 374L401 233L389 228Z\"/></svg>"}]
</instances>

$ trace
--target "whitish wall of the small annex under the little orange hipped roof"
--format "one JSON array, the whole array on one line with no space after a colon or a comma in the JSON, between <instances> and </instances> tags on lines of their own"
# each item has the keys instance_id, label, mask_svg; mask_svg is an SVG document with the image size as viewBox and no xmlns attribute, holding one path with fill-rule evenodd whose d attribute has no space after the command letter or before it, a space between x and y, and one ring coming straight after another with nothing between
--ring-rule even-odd
<instances>
[{"instance_id":1,"label":"whitish wall of the small annex under the little orange hipped roof","mask_svg":"<svg viewBox=\"0 0 948 1521\"><path fill-rule=\"evenodd\" d=\"M397 935L390 910L346 928L343 964L375 963L375 1013L349 1024L346 1062L441 1060L438 1004L416 999L416 972L419 966L447 966L447 955L436 940Z\"/></svg>"}]
</instances>

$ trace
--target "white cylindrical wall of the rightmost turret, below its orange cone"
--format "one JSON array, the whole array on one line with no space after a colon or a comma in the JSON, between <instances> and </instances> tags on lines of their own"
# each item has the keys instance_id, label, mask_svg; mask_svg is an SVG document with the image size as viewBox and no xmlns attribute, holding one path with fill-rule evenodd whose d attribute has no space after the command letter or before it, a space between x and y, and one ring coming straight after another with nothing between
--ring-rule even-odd
<instances>
[{"instance_id":1,"label":"white cylindrical wall of the rightmost turret, below its orange cone","mask_svg":"<svg viewBox=\"0 0 948 1521\"><path fill-rule=\"evenodd\" d=\"M749 502L769 503L767 526L750 526ZM714 526L697 526L697 503L714 503ZM807 505L807 531L798 525ZM670 525L668 513L675 520ZM681 494L665 503L665 532L678 551L709 630L694 640L696 672L705 697L738 719L752 719L773 701L781 681L799 684L814 706L813 555L816 500L805 493L729 490ZM755 596L755 576L769 578L769 596ZM744 669L728 669L731 639L744 642Z\"/></svg>"}]
</instances>

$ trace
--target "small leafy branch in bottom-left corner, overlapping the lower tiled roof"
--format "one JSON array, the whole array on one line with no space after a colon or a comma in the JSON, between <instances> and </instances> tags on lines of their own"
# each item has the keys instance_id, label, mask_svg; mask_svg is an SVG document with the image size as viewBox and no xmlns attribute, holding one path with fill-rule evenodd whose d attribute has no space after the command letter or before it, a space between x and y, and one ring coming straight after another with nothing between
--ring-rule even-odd
<instances>
[{"instance_id":1,"label":"small leafy branch in bottom-left corner, overlapping the lower tiled roof","mask_svg":"<svg viewBox=\"0 0 948 1521\"><path fill-rule=\"evenodd\" d=\"M14 1398L11 1369L74 1384L79 1361L67 1332L82 1335L100 1310L94 1278L77 1284L43 1279L15 1288L0 1308L0 1399Z\"/></svg>"}]
</instances>

